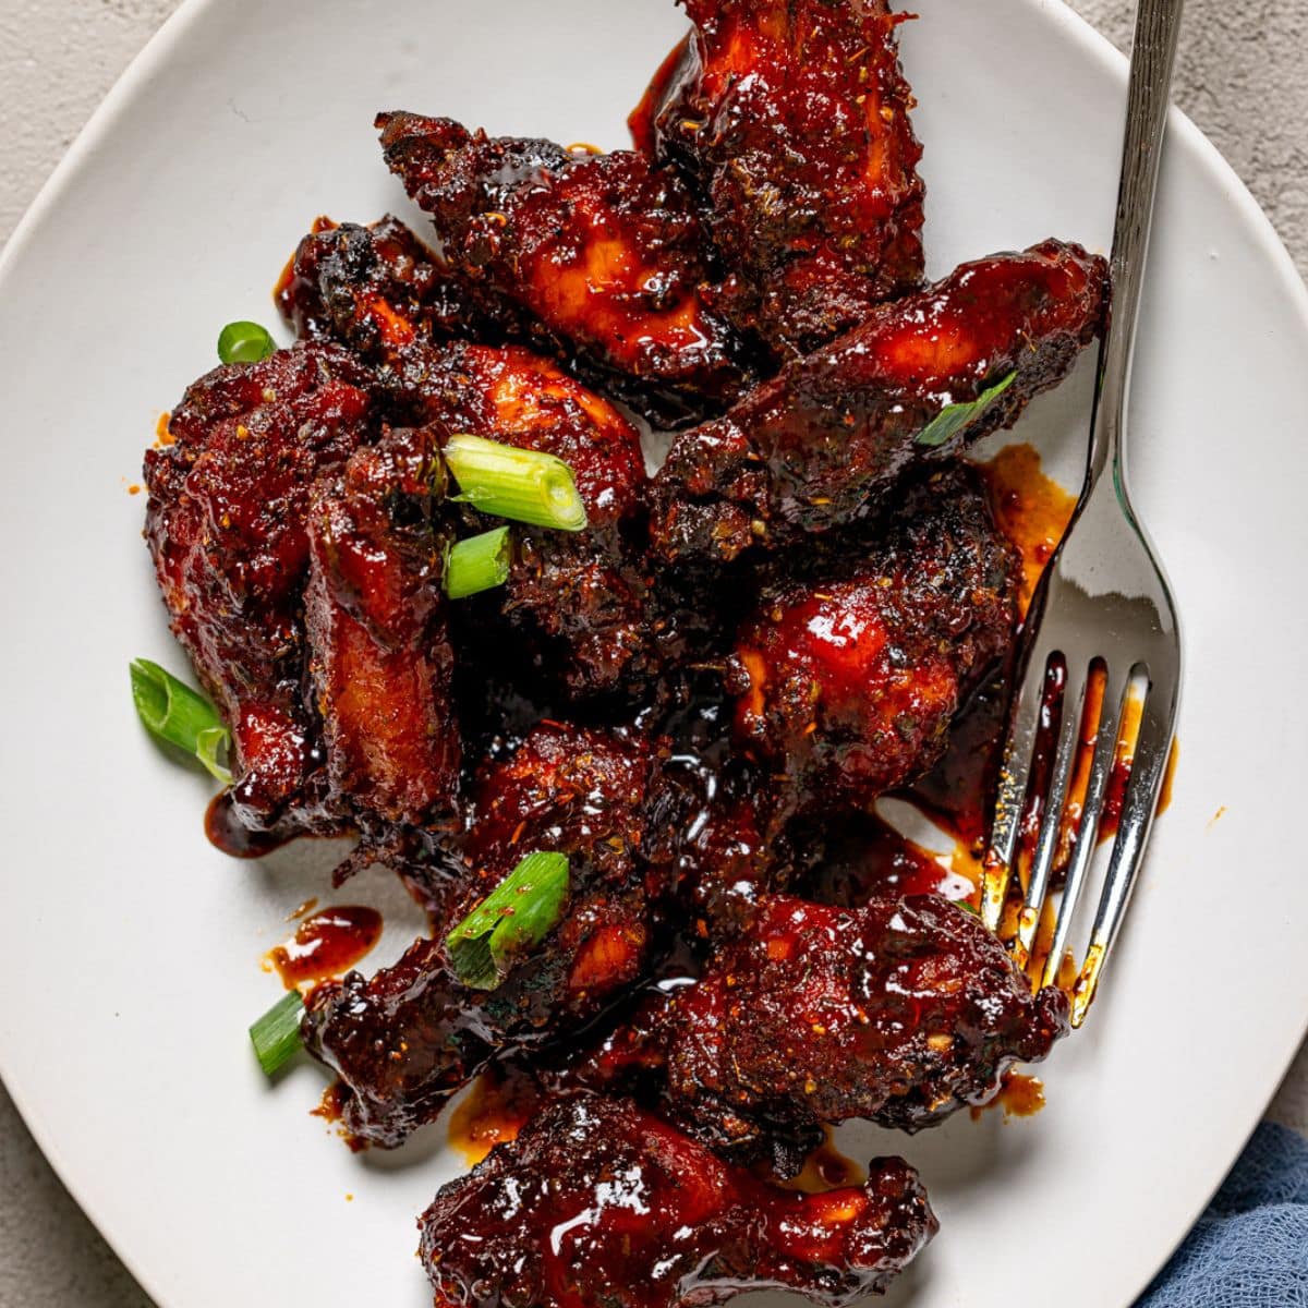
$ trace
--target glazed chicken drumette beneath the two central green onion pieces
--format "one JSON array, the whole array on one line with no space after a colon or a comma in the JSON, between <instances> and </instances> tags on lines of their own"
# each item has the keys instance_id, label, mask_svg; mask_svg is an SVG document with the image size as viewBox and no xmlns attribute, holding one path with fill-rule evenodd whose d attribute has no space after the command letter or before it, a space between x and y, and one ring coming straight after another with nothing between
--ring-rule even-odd
<instances>
[{"instance_id":1,"label":"glazed chicken drumette beneath the two central green onion pieces","mask_svg":"<svg viewBox=\"0 0 1308 1308\"><path fill-rule=\"evenodd\" d=\"M288 264L283 314L298 331L365 354L394 413L430 425L441 445L468 433L572 467L585 531L515 527L509 579L459 607L459 640L479 663L519 651L528 675L568 697L638 693L705 625L654 587L640 434L612 403L522 345L446 340L451 292L433 259L391 218L320 225Z\"/></svg>"}]
</instances>

